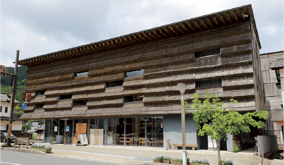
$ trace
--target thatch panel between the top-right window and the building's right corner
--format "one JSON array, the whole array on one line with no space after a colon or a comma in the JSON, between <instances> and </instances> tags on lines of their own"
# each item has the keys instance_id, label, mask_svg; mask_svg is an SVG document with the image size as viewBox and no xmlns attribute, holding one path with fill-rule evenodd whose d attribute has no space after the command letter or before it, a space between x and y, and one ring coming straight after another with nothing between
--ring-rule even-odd
<instances>
[{"instance_id":1,"label":"thatch panel between the top-right window and the building's right corner","mask_svg":"<svg viewBox=\"0 0 284 165\"><path fill-rule=\"evenodd\" d=\"M240 45L234 45L230 47L221 48L221 57L233 56L233 55L245 54L245 53L251 53L251 52L252 52L251 43L246 43L246 44L240 44Z\"/></svg>"}]
</instances>

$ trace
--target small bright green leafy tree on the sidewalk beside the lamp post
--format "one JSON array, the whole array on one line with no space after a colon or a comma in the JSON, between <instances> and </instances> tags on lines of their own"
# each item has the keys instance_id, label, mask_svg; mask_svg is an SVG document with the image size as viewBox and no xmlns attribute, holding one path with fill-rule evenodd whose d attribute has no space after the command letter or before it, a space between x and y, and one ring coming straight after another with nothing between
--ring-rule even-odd
<instances>
[{"instance_id":1,"label":"small bright green leafy tree on the sidewalk beside the lamp post","mask_svg":"<svg viewBox=\"0 0 284 165\"><path fill-rule=\"evenodd\" d=\"M203 104L198 100L198 94L193 96L193 106L190 108L189 104L185 102L185 108L191 109L193 120L196 122L196 130L199 136L204 136L205 133L211 136L211 139L216 140L218 165L221 165L220 142L222 139L228 140L227 133L239 134L242 132L251 132L250 125L258 129L264 128L263 121L256 121L252 119L253 116L260 119L267 119L267 111L252 112L246 114L239 114L237 111L232 111L222 108L223 102L219 102L218 95L215 95L210 101L211 95L207 93L204 96ZM231 104L236 103L237 100L231 99ZM189 113L186 111L186 114ZM209 124L210 123L210 124Z\"/></svg>"}]
</instances>

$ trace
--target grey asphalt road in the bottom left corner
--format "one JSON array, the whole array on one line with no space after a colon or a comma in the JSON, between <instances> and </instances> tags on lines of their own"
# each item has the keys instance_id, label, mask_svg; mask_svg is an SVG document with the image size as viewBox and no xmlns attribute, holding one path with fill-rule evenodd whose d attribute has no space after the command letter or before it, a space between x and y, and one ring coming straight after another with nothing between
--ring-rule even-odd
<instances>
[{"instance_id":1,"label":"grey asphalt road in the bottom left corner","mask_svg":"<svg viewBox=\"0 0 284 165\"><path fill-rule=\"evenodd\" d=\"M0 150L0 165L118 165L118 164Z\"/></svg>"}]
</instances>

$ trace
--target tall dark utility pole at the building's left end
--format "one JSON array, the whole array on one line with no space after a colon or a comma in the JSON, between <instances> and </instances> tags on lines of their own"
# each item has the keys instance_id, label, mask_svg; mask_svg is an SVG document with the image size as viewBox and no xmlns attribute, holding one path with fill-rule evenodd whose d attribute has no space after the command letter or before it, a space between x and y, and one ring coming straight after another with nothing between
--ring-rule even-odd
<instances>
[{"instance_id":1,"label":"tall dark utility pole at the building's left end","mask_svg":"<svg viewBox=\"0 0 284 165\"><path fill-rule=\"evenodd\" d=\"M11 98L11 111L10 111L10 119L9 119L7 147L10 147L10 141L11 141L12 121L13 121L13 113L14 113L14 107L15 107L15 94L16 94L16 85L17 85L19 52L20 52L19 50L17 50L17 52L16 52L15 72L14 72L14 79L13 79L13 90L12 90L12 98ZM13 77L13 75L12 75L12 77Z\"/></svg>"}]
</instances>

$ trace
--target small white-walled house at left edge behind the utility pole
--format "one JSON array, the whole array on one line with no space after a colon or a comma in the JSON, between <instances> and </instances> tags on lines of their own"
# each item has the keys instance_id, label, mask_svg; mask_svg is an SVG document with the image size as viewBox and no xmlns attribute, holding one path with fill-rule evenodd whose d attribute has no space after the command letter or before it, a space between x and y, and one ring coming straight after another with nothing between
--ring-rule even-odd
<instances>
[{"instance_id":1,"label":"small white-walled house at left edge behind the utility pole","mask_svg":"<svg viewBox=\"0 0 284 165\"><path fill-rule=\"evenodd\" d=\"M0 132L8 132L9 118L11 111L11 98L7 93L0 92ZM15 99L15 104L20 102ZM22 120L21 115L13 114L12 133L22 132Z\"/></svg>"}]
</instances>

